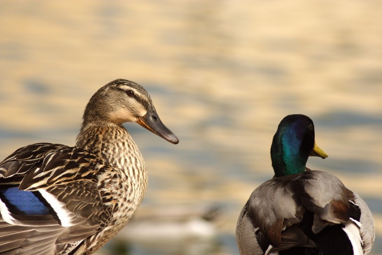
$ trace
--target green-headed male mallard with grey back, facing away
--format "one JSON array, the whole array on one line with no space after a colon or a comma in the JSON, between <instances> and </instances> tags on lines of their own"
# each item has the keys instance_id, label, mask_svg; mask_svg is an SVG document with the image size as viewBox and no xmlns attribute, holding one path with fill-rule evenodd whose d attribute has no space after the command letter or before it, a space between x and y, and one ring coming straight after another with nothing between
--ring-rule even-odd
<instances>
[{"instance_id":1,"label":"green-headed male mallard with grey back, facing away","mask_svg":"<svg viewBox=\"0 0 382 255\"><path fill-rule=\"evenodd\" d=\"M270 148L274 179L257 187L236 225L240 254L365 254L374 242L366 203L334 175L306 168L328 155L314 141L313 121L286 116Z\"/></svg>"}]
</instances>

